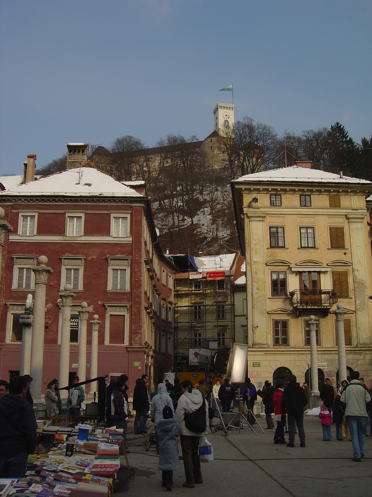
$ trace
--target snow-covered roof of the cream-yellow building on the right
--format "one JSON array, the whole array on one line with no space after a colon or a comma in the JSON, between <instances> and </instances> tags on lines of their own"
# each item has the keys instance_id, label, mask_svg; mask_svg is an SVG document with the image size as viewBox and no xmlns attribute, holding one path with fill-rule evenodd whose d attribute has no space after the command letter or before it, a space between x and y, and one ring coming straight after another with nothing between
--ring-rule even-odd
<instances>
[{"instance_id":1,"label":"snow-covered roof of the cream-yellow building on the right","mask_svg":"<svg viewBox=\"0 0 372 497\"><path fill-rule=\"evenodd\" d=\"M341 178L339 174L300 166L281 167L280 169L270 169L268 171L246 174L232 182L238 183L242 181L307 181L314 183L362 183L365 185L372 185L371 181L367 181L366 179L352 178L350 176L343 176Z\"/></svg>"}]
</instances>

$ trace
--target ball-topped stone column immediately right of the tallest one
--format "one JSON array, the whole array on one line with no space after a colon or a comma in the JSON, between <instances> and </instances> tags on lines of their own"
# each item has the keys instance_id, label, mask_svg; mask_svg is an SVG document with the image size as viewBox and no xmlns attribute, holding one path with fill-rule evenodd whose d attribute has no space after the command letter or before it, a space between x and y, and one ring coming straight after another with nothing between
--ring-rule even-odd
<instances>
[{"instance_id":1,"label":"ball-topped stone column immediately right of the tallest one","mask_svg":"<svg viewBox=\"0 0 372 497\"><path fill-rule=\"evenodd\" d=\"M75 297L71 293L71 285L64 285L64 292L60 292L62 299L62 325L61 325L61 347L60 347L60 386L67 387L68 372L70 369L70 322L71 322L71 305ZM60 390L61 399L67 399L68 390Z\"/></svg>"}]
</instances>

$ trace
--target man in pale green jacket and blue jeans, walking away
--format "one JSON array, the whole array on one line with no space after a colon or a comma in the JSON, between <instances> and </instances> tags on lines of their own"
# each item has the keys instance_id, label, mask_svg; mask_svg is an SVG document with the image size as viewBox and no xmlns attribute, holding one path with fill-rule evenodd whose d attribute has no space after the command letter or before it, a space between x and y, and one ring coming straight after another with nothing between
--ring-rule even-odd
<instances>
[{"instance_id":1,"label":"man in pale green jacket and blue jeans, walking away","mask_svg":"<svg viewBox=\"0 0 372 497\"><path fill-rule=\"evenodd\" d=\"M351 381L341 395L341 403L345 407L345 416L348 422L351 441L353 442L353 461L360 463L364 457L364 442L367 430L367 405L371 404L371 396L359 381L359 372L353 371Z\"/></svg>"}]
</instances>

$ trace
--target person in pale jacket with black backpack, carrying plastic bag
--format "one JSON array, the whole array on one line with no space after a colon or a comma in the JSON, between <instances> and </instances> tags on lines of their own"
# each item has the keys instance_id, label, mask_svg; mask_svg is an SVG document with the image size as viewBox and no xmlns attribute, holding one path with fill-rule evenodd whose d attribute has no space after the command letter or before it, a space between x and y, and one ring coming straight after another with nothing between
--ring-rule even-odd
<instances>
[{"instance_id":1,"label":"person in pale jacket with black backpack, carrying plastic bag","mask_svg":"<svg viewBox=\"0 0 372 497\"><path fill-rule=\"evenodd\" d=\"M208 433L208 405L188 380L181 383L181 389L183 395L178 401L176 418L183 433L180 438L186 476L184 487L193 489L195 483L203 483L198 449L200 437Z\"/></svg>"}]
</instances>

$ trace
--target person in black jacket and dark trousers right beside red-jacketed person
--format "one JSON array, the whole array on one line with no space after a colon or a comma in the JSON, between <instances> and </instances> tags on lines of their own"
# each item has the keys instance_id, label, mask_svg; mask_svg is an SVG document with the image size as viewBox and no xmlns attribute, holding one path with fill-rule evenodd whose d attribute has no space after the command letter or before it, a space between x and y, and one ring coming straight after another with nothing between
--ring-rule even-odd
<instances>
[{"instance_id":1,"label":"person in black jacket and dark trousers right beside red-jacketed person","mask_svg":"<svg viewBox=\"0 0 372 497\"><path fill-rule=\"evenodd\" d=\"M289 442L287 447L295 446L295 422L299 430L300 447L305 447L305 430L304 430L304 408L308 403L308 397L305 390L297 383L297 378L293 374L289 377L288 386L285 387L281 409L287 411L288 416L288 434Z\"/></svg>"}]
</instances>

